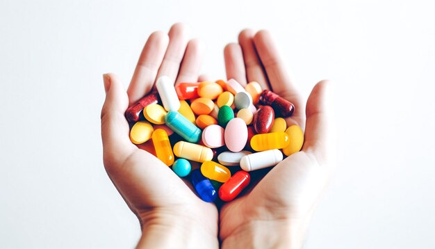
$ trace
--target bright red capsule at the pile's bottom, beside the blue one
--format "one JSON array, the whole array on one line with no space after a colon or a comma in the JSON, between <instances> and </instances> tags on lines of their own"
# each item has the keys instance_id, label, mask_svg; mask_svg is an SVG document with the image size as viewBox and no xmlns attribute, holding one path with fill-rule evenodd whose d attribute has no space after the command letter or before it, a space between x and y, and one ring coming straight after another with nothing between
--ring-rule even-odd
<instances>
[{"instance_id":1,"label":"bright red capsule at the pile's bottom, beside the blue one","mask_svg":"<svg viewBox=\"0 0 435 249\"><path fill-rule=\"evenodd\" d=\"M219 188L219 198L224 202L234 200L240 192L249 185L251 177L243 170L236 172L227 182Z\"/></svg>"}]
</instances>

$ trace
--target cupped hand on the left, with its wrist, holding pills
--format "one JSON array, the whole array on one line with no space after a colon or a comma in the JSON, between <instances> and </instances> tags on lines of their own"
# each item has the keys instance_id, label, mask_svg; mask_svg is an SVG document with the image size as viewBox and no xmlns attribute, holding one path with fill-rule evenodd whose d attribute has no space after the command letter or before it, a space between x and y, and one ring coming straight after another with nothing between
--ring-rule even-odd
<instances>
[{"instance_id":1,"label":"cupped hand on the left, with its wrist, holding pills","mask_svg":"<svg viewBox=\"0 0 435 249\"><path fill-rule=\"evenodd\" d=\"M186 26L174 24L169 35L152 33L140 55L129 89L114 74L104 74L106 101L101 111L104 166L118 191L138 216L138 248L216 248L217 209L203 202L180 177L129 140L124 112L149 93L158 77L197 82L204 46L188 40ZM151 148L151 143L141 147Z\"/></svg>"}]
</instances>

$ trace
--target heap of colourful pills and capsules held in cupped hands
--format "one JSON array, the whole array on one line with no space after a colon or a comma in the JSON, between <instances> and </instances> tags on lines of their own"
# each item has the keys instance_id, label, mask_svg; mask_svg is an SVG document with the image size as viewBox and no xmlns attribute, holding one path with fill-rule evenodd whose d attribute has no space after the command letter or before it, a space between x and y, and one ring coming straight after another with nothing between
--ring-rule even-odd
<instances>
[{"instance_id":1,"label":"heap of colourful pills and capsules held in cupped hands","mask_svg":"<svg viewBox=\"0 0 435 249\"><path fill-rule=\"evenodd\" d=\"M218 195L229 202L249 185L250 171L275 166L283 153L301 150L302 129L287 127L284 120L294 110L256 82L243 87L230 79L175 87L170 78L160 77L156 90L125 116L132 124L131 142L151 139L158 159L179 177L190 175L199 198L213 202ZM170 139L173 133L178 138ZM200 169L192 170L194 162L202 163Z\"/></svg>"}]
</instances>

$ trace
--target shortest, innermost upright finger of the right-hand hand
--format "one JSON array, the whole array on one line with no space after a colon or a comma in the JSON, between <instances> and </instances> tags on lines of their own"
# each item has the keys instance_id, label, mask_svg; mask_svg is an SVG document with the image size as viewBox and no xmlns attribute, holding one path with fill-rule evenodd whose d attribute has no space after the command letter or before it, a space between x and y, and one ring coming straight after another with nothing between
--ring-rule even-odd
<instances>
[{"instance_id":1,"label":"shortest, innermost upright finger of the right-hand hand","mask_svg":"<svg viewBox=\"0 0 435 249\"><path fill-rule=\"evenodd\" d=\"M224 49L225 70L227 79L235 79L242 86L246 85L245 63L240 45L230 43Z\"/></svg>"}]
</instances>

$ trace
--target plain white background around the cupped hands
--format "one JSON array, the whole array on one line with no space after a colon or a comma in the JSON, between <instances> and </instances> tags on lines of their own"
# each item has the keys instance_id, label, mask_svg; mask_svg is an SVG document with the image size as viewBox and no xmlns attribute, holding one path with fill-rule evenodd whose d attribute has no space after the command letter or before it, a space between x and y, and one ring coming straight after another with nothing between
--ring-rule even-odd
<instances>
[{"instance_id":1,"label":"plain white background around the cupped hands","mask_svg":"<svg viewBox=\"0 0 435 249\"><path fill-rule=\"evenodd\" d=\"M435 1L271 0L1 0L0 248L136 245L102 164L101 74L127 86L147 36L180 21L213 79L251 27L304 96L335 81L339 164L306 248L435 248Z\"/></svg>"}]
</instances>

